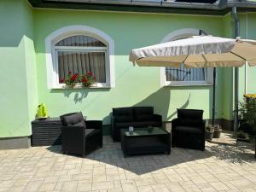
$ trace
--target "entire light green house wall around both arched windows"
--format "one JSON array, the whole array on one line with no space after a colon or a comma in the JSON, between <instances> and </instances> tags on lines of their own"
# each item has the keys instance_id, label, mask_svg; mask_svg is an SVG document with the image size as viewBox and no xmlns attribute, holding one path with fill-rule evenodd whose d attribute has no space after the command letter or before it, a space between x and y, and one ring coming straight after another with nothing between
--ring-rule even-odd
<instances>
[{"instance_id":1,"label":"entire light green house wall around both arched windows","mask_svg":"<svg viewBox=\"0 0 256 192\"><path fill-rule=\"evenodd\" d=\"M255 14L241 14L241 37L256 39ZM38 103L45 102L50 117L82 111L87 119L110 124L112 108L154 106L164 121L176 117L177 108L203 109L212 116L212 86L161 87L160 68L133 67L131 49L158 44L182 28L203 29L214 36L233 37L231 15L166 15L86 10L32 9L24 0L0 2L0 137L31 135L30 122ZM105 32L114 41L115 87L91 89L47 88L45 38L64 26L84 25ZM245 75L245 70L247 74ZM256 89L255 68L240 69L240 98ZM232 68L218 69L216 117L232 119ZM3 110L4 109L4 110Z\"/></svg>"}]
</instances>

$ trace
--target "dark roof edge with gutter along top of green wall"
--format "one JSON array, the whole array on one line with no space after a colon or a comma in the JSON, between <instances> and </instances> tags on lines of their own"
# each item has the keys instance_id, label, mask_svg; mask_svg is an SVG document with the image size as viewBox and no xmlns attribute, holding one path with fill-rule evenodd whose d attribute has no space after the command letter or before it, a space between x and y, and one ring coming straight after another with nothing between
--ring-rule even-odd
<instances>
[{"instance_id":1,"label":"dark roof edge with gutter along top of green wall","mask_svg":"<svg viewBox=\"0 0 256 192\"><path fill-rule=\"evenodd\" d=\"M142 2L134 0L28 0L34 8L107 10L115 12L142 12L189 15L226 15L236 6L238 11L256 12L256 3L228 2L218 3L179 3L179 2Z\"/></svg>"}]
</instances>

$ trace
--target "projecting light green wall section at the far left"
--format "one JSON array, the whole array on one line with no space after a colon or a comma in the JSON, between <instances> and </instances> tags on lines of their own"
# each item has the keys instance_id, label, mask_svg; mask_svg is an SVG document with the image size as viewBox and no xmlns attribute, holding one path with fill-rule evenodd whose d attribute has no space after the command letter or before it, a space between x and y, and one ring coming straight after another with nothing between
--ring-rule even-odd
<instances>
[{"instance_id":1,"label":"projecting light green wall section at the far left","mask_svg":"<svg viewBox=\"0 0 256 192\"><path fill-rule=\"evenodd\" d=\"M0 137L29 136L38 104L31 7L2 0L0 24Z\"/></svg>"}]
</instances>

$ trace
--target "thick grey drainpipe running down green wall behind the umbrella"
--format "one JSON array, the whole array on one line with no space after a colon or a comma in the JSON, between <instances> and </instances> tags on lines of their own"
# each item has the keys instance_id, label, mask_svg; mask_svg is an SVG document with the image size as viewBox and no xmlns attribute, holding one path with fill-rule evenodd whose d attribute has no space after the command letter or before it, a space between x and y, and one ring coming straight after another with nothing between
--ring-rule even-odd
<instances>
[{"instance_id":1,"label":"thick grey drainpipe running down green wall behind the umbrella","mask_svg":"<svg viewBox=\"0 0 256 192\"><path fill-rule=\"evenodd\" d=\"M240 29L240 22L239 18L236 12L236 6L232 7L232 18L235 22L235 37L239 37L239 29ZM238 130L238 91L239 91L239 86L238 86L238 67L235 67L235 110L234 110L234 131L236 132Z\"/></svg>"}]
</instances>

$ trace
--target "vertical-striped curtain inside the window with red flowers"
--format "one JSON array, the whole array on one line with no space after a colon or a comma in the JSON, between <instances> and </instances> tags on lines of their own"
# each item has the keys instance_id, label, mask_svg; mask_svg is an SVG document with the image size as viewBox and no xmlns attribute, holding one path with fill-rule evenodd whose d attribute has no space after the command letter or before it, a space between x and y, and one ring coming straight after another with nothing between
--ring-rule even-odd
<instances>
[{"instance_id":1,"label":"vertical-striped curtain inside the window with red flowers","mask_svg":"<svg viewBox=\"0 0 256 192\"><path fill-rule=\"evenodd\" d=\"M106 47L101 41L78 35L62 39L55 47ZM57 51L59 79L66 79L68 72L84 75L91 72L96 82L106 83L106 60L103 50L59 50Z\"/></svg>"}]
</instances>

